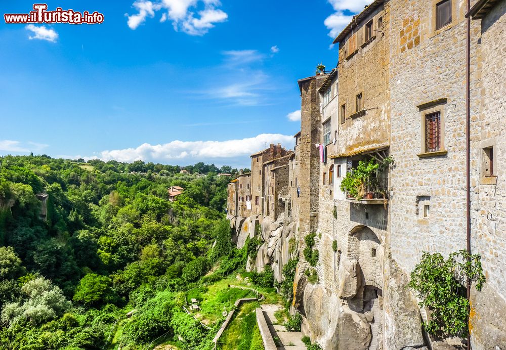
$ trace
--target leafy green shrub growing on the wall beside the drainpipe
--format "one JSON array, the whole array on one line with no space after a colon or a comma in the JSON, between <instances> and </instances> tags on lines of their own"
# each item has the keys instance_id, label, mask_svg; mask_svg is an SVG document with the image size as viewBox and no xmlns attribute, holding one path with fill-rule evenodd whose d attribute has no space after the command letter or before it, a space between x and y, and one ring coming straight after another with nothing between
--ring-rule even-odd
<instances>
[{"instance_id":1,"label":"leafy green shrub growing on the wall beside the drainpipe","mask_svg":"<svg viewBox=\"0 0 506 350\"><path fill-rule=\"evenodd\" d=\"M459 250L445 260L440 253L423 253L408 286L421 298L420 306L431 311L430 320L424 323L428 333L467 334L470 304L463 287L467 278L481 291L485 276L480 255Z\"/></svg>"}]
</instances>

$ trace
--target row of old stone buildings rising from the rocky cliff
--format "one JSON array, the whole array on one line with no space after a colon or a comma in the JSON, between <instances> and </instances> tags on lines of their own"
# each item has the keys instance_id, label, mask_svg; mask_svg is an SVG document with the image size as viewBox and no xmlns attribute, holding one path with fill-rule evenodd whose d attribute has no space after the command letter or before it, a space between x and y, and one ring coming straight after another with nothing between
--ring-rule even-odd
<instances>
[{"instance_id":1,"label":"row of old stone buildings rising from the rocky cliff","mask_svg":"<svg viewBox=\"0 0 506 350\"><path fill-rule=\"evenodd\" d=\"M407 284L424 251L466 249L468 18L471 251L487 278L471 291L471 345L506 348L506 0L467 5L372 2L335 39L337 67L298 81L294 152L282 165L259 159L256 171L252 155L252 176L264 176L257 217L265 243L251 266L271 265L280 281L297 242L293 307L325 349L466 346L423 331L430 312ZM356 193L342 191L369 163L378 169ZM304 254L312 233L316 266Z\"/></svg>"}]
</instances>

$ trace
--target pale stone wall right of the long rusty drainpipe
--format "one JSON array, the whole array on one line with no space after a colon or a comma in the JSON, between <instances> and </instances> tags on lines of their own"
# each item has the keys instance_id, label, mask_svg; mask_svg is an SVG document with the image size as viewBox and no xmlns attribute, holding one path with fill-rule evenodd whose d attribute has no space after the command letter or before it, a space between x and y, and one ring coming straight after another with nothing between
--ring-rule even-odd
<instances>
[{"instance_id":1,"label":"pale stone wall right of the long rusty drainpipe","mask_svg":"<svg viewBox=\"0 0 506 350\"><path fill-rule=\"evenodd\" d=\"M506 1L480 21L472 37L477 67L472 70L471 186L472 250L482 257L487 282L472 292L472 345L506 348ZM474 56L474 55L473 55ZM484 175L485 148L493 148L493 177Z\"/></svg>"}]
</instances>

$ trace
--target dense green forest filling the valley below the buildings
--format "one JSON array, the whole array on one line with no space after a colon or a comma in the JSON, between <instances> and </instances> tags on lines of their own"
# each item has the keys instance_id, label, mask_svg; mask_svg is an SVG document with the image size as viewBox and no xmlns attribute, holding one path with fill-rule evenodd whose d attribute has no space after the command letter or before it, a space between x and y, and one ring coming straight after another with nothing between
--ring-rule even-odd
<instances>
[{"instance_id":1,"label":"dense green forest filling the valley below the buildings","mask_svg":"<svg viewBox=\"0 0 506 350\"><path fill-rule=\"evenodd\" d=\"M0 161L1 349L214 347L223 319L202 326L184 312L184 292L203 288L205 296L205 285L245 267L252 248L232 246L230 178L217 175L237 169L197 163L183 174L45 155ZM184 189L174 202L171 186ZM272 272L253 277L273 290ZM244 291L220 293L207 292L225 305ZM241 348L262 348L255 342Z\"/></svg>"}]
</instances>

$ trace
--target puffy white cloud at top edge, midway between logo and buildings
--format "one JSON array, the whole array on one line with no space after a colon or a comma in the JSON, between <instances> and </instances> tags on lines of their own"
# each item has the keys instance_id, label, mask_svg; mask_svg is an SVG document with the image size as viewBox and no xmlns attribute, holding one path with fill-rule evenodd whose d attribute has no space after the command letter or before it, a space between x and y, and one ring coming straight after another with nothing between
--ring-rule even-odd
<instances>
[{"instance_id":1,"label":"puffy white cloud at top edge, midway between logo and buildings","mask_svg":"<svg viewBox=\"0 0 506 350\"><path fill-rule=\"evenodd\" d=\"M204 35L215 23L227 20L228 15L218 9L220 5L218 0L161 0L156 3L138 0L133 4L138 13L126 16L129 27L136 29L147 17L154 17L156 11L164 11L160 22L171 20L175 30L190 35Z\"/></svg>"}]
</instances>

